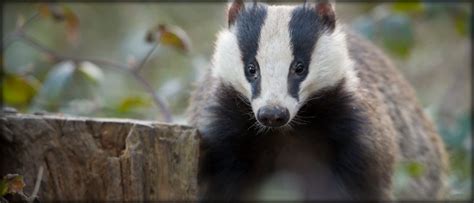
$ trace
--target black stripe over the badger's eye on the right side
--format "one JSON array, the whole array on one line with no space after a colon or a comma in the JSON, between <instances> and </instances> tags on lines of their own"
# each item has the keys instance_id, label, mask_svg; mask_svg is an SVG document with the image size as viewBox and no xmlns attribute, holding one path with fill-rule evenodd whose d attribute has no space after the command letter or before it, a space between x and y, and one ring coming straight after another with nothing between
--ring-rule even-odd
<instances>
[{"instance_id":1,"label":"black stripe over the badger's eye on the right side","mask_svg":"<svg viewBox=\"0 0 474 203\"><path fill-rule=\"evenodd\" d=\"M293 62L288 74L288 94L299 100L300 84L308 75L311 55L319 36L329 27L325 26L323 19L312 7L300 6L293 10L289 23ZM305 71L295 74L293 69L296 64L302 64Z\"/></svg>"}]
</instances>

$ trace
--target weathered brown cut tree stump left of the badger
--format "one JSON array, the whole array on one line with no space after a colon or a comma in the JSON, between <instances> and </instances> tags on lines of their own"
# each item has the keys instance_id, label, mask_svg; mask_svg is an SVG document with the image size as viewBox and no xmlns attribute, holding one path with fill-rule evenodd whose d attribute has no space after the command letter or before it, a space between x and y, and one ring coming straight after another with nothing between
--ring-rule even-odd
<instances>
[{"instance_id":1,"label":"weathered brown cut tree stump left of the badger","mask_svg":"<svg viewBox=\"0 0 474 203\"><path fill-rule=\"evenodd\" d=\"M0 175L20 174L42 200L194 200L193 128L125 119L4 113Z\"/></svg>"}]
</instances>

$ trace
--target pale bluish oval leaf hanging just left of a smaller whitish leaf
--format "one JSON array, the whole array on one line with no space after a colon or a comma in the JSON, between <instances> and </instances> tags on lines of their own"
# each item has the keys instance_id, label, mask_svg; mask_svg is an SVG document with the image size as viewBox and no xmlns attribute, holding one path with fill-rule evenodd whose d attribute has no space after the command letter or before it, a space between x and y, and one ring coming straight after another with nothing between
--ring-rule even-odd
<instances>
[{"instance_id":1,"label":"pale bluish oval leaf hanging just left of a smaller whitish leaf","mask_svg":"<svg viewBox=\"0 0 474 203\"><path fill-rule=\"evenodd\" d=\"M39 98L48 103L56 102L64 88L72 79L75 65L71 61L64 61L56 64L51 71L48 72L43 87L40 90Z\"/></svg>"}]
</instances>

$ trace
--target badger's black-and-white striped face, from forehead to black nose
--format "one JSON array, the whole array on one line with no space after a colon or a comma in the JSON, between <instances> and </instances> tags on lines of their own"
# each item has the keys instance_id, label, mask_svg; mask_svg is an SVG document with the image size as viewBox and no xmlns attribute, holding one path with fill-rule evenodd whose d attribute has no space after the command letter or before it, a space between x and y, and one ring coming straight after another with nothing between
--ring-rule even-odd
<instances>
[{"instance_id":1,"label":"badger's black-and-white striped face, from forehead to black nose","mask_svg":"<svg viewBox=\"0 0 474 203\"><path fill-rule=\"evenodd\" d=\"M212 74L244 95L265 127L291 124L314 93L353 75L345 37L329 3L229 7Z\"/></svg>"}]
</instances>

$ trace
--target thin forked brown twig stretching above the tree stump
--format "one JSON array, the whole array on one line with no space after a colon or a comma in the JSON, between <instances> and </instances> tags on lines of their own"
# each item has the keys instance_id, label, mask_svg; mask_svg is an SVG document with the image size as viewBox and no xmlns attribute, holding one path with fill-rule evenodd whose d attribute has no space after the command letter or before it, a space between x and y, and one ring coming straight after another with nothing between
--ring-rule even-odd
<instances>
[{"instance_id":1,"label":"thin forked brown twig stretching above the tree stump","mask_svg":"<svg viewBox=\"0 0 474 203\"><path fill-rule=\"evenodd\" d=\"M36 15L37 16L37 15ZM34 16L34 18L36 18ZM30 23L31 20L28 20L24 25ZM37 49L40 52L47 53L51 57L53 57L57 61L62 61L62 60L71 60L73 62L81 62L81 61L89 61L91 63L97 64L99 66L107 66L107 67L113 67L116 68L117 70L122 70L122 71L127 71L128 73L132 74L134 78L142 85L142 87L147 91L153 98L153 102L155 105L160 109L163 119L165 122L172 122L172 115L169 107L166 105L166 103L163 101L163 99L156 94L154 91L153 87L150 85L150 83L139 74L139 71L145 66L146 62L148 59L151 57L153 52L156 50L158 47L158 44L156 43L152 49L147 53L145 58L141 60L139 65L137 66L129 66L129 65L124 65L121 63L109 61L109 60L103 60L103 59L92 59L92 58L86 58L86 57L77 57L77 56L72 56L72 55L65 55L65 54L60 54L59 52L44 46L43 44L40 44L38 40L34 39L31 36L28 36L24 32L24 27L21 26L19 27L14 33L12 33L12 36L14 36L17 39L22 39L23 42L26 44L30 45L31 47Z\"/></svg>"}]
</instances>

